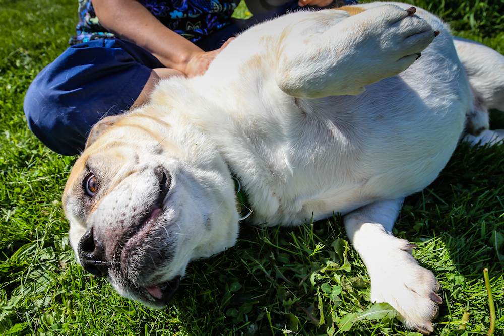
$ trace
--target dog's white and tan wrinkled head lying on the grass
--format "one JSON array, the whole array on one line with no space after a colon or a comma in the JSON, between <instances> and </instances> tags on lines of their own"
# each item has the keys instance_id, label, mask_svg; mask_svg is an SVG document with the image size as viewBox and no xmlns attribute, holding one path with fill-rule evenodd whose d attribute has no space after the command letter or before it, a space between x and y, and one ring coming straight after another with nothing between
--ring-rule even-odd
<instances>
[{"instance_id":1,"label":"dog's white and tan wrinkled head lying on the grass","mask_svg":"<svg viewBox=\"0 0 504 336\"><path fill-rule=\"evenodd\" d=\"M143 112L95 125L63 203L84 268L162 308L188 262L234 245L238 214L227 166L204 135Z\"/></svg>"}]
</instances>

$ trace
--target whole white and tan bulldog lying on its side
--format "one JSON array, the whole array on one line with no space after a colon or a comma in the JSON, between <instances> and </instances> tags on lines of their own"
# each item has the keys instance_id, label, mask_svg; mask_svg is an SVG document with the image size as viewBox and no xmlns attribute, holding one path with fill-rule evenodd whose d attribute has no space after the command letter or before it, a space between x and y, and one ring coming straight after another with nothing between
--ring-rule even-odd
<instances>
[{"instance_id":1,"label":"whole white and tan bulldog lying on its side","mask_svg":"<svg viewBox=\"0 0 504 336\"><path fill-rule=\"evenodd\" d=\"M502 74L500 54L406 4L260 24L205 75L163 81L150 103L95 125L63 196L70 241L120 295L164 307L191 260L235 244L236 178L258 225L342 213L371 300L428 334L439 283L392 227L464 129L504 139L487 130Z\"/></svg>"}]
</instances>

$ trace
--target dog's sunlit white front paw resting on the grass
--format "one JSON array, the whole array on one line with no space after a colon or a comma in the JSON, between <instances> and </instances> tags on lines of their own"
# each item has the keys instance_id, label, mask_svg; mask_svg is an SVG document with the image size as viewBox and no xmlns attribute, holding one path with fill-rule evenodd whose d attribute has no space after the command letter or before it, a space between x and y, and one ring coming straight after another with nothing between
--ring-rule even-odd
<instances>
[{"instance_id":1,"label":"dog's sunlit white front paw resting on the grass","mask_svg":"<svg viewBox=\"0 0 504 336\"><path fill-rule=\"evenodd\" d=\"M389 303L400 313L398 319L406 327L429 334L434 331L431 320L437 315L438 305L443 303L436 294L439 282L411 255L416 245L391 238L390 244L376 253L376 257L383 259L369 270L371 301Z\"/></svg>"}]
</instances>

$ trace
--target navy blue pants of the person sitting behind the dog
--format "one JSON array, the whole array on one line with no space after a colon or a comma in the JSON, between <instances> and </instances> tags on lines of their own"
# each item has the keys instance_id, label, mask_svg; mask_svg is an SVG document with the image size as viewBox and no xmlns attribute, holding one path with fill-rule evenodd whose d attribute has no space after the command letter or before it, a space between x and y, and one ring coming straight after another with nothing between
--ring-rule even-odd
<instances>
[{"instance_id":1,"label":"navy blue pants of the person sitting behind the dog","mask_svg":"<svg viewBox=\"0 0 504 336\"><path fill-rule=\"evenodd\" d=\"M268 13L234 20L195 44L205 51L215 50L257 23L299 9L294 0ZM73 45L28 88L23 106L28 126L53 151L79 154L91 127L104 116L128 111L155 68L164 65L145 49L120 39Z\"/></svg>"}]
</instances>

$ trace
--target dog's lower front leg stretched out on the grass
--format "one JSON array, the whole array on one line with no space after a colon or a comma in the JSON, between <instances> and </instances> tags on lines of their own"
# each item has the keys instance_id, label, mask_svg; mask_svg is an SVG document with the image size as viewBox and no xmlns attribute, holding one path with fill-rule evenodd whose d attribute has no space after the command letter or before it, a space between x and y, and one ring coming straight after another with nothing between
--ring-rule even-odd
<instances>
[{"instance_id":1,"label":"dog's lower front leg stretched out on the grass","mask_svg":"<svg viewBox=\"0 0 504 336\"><path fill-rule=\"evenodd\" d=\"M392 235L403 198L375 202L347 214L343 221L371 278L371 301L387 302L407 327L421 333L433 331L441 298L432 272L413 258L416 245Z\"/></svg>"}]
</instances>

